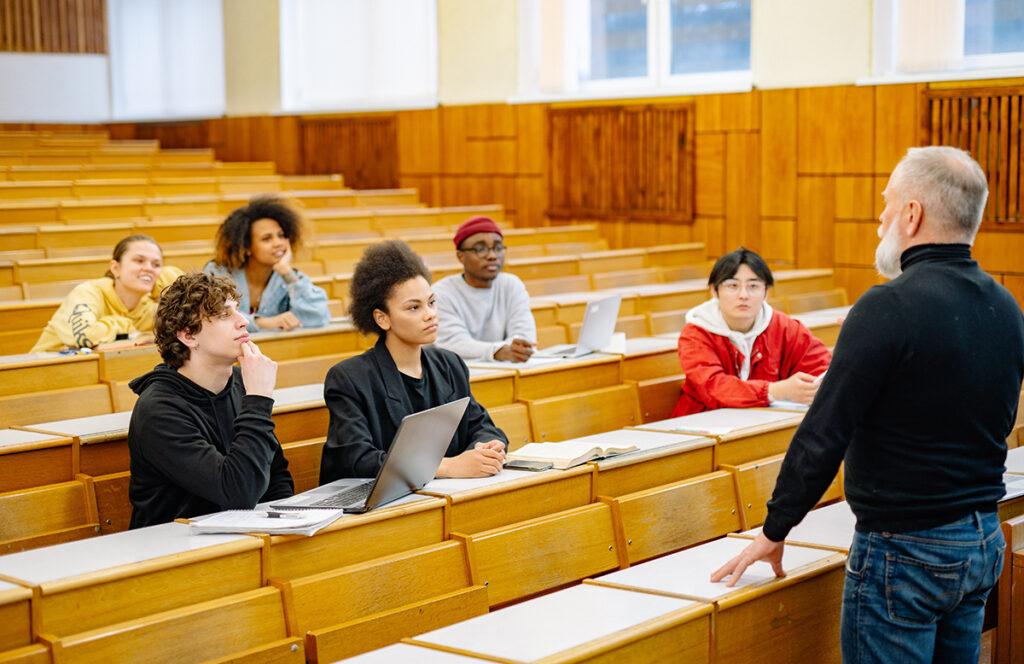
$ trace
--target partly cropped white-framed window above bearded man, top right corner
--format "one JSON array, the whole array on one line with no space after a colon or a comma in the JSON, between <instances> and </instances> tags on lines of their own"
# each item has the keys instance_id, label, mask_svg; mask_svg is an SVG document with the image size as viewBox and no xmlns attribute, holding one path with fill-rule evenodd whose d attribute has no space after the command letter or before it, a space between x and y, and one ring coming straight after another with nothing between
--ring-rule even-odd
<instances>
[{"instance_id":1,"label":"partly cropped white-framed window above bearded man, top right corner","mask_svg":"<svg viewBox=\"0 0 1024 664\"><path fill-rule=\"evenodd\" d=\"M1024 2L877 0L872 60L883 78L1007 76L1024 67Z\"/></svg>"}]
</instances>

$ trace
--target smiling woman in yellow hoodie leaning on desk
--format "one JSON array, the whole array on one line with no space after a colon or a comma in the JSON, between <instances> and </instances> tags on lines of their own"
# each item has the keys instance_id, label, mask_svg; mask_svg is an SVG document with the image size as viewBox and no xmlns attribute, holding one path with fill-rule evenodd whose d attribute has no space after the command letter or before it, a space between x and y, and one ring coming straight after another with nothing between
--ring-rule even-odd
<instances>
[{"instance_id":1,"label":"smiling woman in yellow hoodie leaning on desk","mask_svg":"<svg viewBox=\"0 0 1024 664\"><path fill-rule=\"evenodd\" d=\"M92 348L122 339L146 340L160 291L181 271L164 266L164 252L145 235L131 235L114 247L110 268L68 294L46 324L32 352Z\"/></svg>"}]
</instances>

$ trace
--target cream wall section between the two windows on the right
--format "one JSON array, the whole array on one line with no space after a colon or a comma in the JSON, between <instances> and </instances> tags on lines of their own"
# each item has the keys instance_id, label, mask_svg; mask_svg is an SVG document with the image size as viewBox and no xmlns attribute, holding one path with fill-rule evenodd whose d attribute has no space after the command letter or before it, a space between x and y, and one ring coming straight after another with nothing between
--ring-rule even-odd
<instances>
[{"instance_id":1,"label":"cream wall section between the two windows on the right","mask_svg":"<svg viewBox=\"0 0 1024 664\"><path fill-rule=\"evenodd\" d=\"M871 0L753 0L755 87L853 83L870 74Z\"/></svg>"}]
</instances>

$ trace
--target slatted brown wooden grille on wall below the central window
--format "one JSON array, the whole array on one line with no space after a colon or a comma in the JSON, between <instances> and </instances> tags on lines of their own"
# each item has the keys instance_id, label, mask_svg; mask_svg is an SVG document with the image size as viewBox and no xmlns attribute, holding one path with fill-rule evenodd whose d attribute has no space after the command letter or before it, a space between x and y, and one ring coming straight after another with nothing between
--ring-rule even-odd
<instances>
[{"instance_id":1,"label":"slatted brown wooden grille on wall below the central window","mask_svg":"<svg viewBox=\"0 0 1024 664\"><path fill-rule=\"evenodd\" d=\"M693 107L549 111L553 218L693 220Z\"/></svg>"}]
</instances>

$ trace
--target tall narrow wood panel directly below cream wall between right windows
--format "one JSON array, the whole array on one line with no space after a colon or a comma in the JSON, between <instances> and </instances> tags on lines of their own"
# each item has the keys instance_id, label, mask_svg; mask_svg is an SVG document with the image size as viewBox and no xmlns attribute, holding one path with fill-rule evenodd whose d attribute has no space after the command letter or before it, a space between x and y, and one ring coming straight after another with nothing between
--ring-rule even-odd
<instances>
[{"instance_id":1,"label":"tall narrow wood panel directly below cream wall between right windows","mask_svg":"<svg viewBox=\"0 0 1024 664\"><path fill-rule=\"evenodd\" d=\"M797 216L797 91L761 93L761 214ZM699 162L698 162L699 164ZM699 171L697 172L699 175Z\"/></svg>"}]
</instances>

